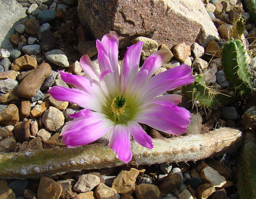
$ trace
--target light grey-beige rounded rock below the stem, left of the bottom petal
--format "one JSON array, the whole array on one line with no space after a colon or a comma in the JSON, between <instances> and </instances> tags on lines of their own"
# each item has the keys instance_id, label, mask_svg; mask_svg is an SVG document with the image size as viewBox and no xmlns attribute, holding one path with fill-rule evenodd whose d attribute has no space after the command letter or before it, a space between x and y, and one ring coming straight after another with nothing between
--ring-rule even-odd
<instances>
[{"instance_id":1,"label":"light grey-beige rounded rock below the stem, left of the bottom petal","mask_svg":"<svg viewBox=\"0 0 256 199\"><path fill-rule=\"evenodd\" d=\"M73 189L79 193L84 193L91 191L94 187L99 185L100 178L96 175L84 174L81 175L76 184L73 186Z\"/></svg>"}]
</instances>

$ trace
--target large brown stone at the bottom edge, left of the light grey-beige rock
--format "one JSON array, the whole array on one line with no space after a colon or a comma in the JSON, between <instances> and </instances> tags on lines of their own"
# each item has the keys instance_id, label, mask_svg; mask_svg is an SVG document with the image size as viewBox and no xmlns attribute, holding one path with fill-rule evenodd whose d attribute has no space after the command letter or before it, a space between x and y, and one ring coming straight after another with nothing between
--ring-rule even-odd
<instances>
[{"instance_id":1,"label":"large brown stone at the bottom edge, left of the light grey-beige rock","mask_svg":"<svg viewBox=\"0 0 256 199\"><path fill-rule=\"evenodd\" d=\"M58 199L61 192L62 188L59 183L49 177L41 177L37 190L38 199Z\"/></svg>"}]
</instances>

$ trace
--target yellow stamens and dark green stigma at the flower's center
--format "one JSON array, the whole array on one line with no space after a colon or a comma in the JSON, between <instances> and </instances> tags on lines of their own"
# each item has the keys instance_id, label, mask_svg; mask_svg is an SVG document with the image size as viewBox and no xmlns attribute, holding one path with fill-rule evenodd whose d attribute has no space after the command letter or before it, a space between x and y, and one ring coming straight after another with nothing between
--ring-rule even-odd
<instances>
[{"instance_id":1,"label":"yellow stamens and dark green stigma at the flower's center","mask_svg":"<svg viewBox=\"0 0 256 199\"><path fill-rule=\"evenodd\" d=\"M125 123L132 117L132 108L123 98L123 94L121 94L121 97L117 96L113 99L108 112L112 120L117 123Z\"/></svg>"}]
</instances>

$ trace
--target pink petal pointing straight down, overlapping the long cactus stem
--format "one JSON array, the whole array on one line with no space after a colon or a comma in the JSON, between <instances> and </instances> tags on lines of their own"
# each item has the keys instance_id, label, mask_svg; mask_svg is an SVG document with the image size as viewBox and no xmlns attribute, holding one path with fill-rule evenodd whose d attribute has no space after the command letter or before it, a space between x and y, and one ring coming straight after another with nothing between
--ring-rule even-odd
<instances>
[{"instance_id":1,"label":"pink petal pointing straight down, overlapping the long cactus stem","mask_svg":"<svg viewBox=\"0 0 256 199\"><path fill-rule=\"evenodd\" d=\"M117 153L118 158L125 163L132 159L130 130L125 124L115 125L109 133L109 147Z\"/></svg>"}]
</instances>

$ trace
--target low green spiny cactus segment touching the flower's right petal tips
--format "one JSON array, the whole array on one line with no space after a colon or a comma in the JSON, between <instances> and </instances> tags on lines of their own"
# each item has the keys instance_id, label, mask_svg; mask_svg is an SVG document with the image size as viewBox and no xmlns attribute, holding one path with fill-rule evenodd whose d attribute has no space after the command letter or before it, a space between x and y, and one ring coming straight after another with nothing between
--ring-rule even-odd
<instances>
[{"instance_id":1,"label":"low green spiny cactus segment touching the flower's right petal tips","mask_svg":"<svg viewBox=\"0 0 256 199\"><path fill-rule=\"evenodd\" d=\"M181 93L187 100L193 101L194 105L211 108L225 105L232 99L230 92L225 90L217 91L213 88L207 86L204 82L204 77L198 74L194 83L182 87Z\"/></svg>"}]
</instances>

